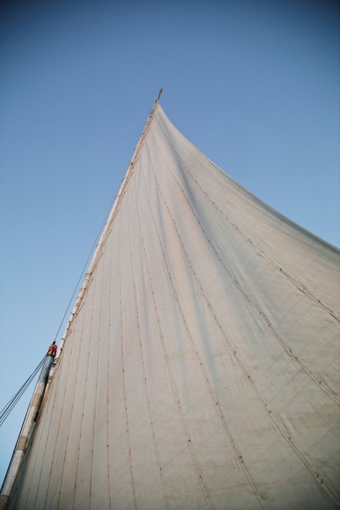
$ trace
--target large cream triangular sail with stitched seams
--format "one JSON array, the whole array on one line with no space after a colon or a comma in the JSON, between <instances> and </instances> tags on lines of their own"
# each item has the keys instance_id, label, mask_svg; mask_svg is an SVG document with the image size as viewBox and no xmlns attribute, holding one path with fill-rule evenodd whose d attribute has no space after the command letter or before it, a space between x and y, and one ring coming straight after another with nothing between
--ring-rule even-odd
<instances>
[{"instance_id":1,"label":"large cream triangular sail with stitched seams","mask_svg":"<svg viewBox=\"0 0 340 510\"><path fill-rule=\"evenodd\" d=\"M339 437L339 251L230 179L158 105L15 508L329 510Z\"/></svg>"}]
</instances>

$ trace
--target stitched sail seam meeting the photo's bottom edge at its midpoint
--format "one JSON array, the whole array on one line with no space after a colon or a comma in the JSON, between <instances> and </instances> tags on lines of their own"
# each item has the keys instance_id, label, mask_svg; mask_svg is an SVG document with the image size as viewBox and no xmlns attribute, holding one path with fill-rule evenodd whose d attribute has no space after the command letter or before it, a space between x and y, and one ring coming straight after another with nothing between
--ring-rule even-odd
<instances>
[{"instance_id":1,"label":"stitched sail seam meeting the photo's bottom edge at its midpoint","mask_svg":"<svg viewBox=\"0 0 340 510\"><path fill-rule=\"evenodd\" d=\"M131 260L131 272L132 272L132 283L134 288L134 295L135 295L135 309L136 309L136 318L137 318L137 329L138 329L138 343L140 344L140 359L142 361L142 370L143 370L143 378L144 378L144 387L145 387L145 397L147 399L147 412L149 416L149 425L152 433L152 442L154 444L154 454L156 455L157 459L157 467L158 467L158 473L159 473L159 480L162 485L162 490L164 494L164 500L166 504L166 508L169 510L169 502L168 497L166 496L166 491L164 487L164 480L163 480L163 474L162 474L162 467L159 462L159 454L156 444L156 439L154 435L154 426L152 424L152 416L151 416L151 409L150 409L150 399L149 399L149 391L147 388L147 374L145 372L145 356L143 353L143 346L142 346L142 336L140 332L140 317L138 314L138 305L137 305L137 292L136 292L136 279L135 279L135 268L133 266L133 260L132 260L132 246L131 246L131 232L130 232L130 205L129 205L129 190L127 189L127 201L128 201L128 240L129 240L129 249L130 249L130 260Z\"/></svg>"}]
</instances>

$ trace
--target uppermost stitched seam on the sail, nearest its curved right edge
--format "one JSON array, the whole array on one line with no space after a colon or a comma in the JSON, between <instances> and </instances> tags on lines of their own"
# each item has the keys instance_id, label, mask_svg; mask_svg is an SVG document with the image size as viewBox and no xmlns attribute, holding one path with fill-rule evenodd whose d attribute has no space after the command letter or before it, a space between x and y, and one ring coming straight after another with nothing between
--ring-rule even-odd
<instances>
[{"instance_id":1,"label":"uppermost stitched seam on the sail, nearest its curved right edge","mask_svg":"<svg viewBox=\"0 0 340 510\"><path fill-rule=\"evenodd\" d=\"M159 120L158 118L156 117L157 119L157 122L159 123ZM161 130L163 131L164 133L164 137L166 138L166 140L169 142L169 144L171 145L171 147L174 149L174 152L177 156L177 158L179 159L179 162L181 162L181 164L183 165L183 167L186 169L186 171L188 172L188 174L191 176L191 179L193 179L193 181L196 183L196 185L198 186L198 188L200 188L200 191L202 193L204 193L204 195L208 198L208 200L210 200L210 202L212 203L213 207L218 211L220 212L220 215L222 215L222 217L225 218L225 220L229 223L229 225L232 226L232 228L238 233L240 234L243 239L249 243L251 246L253 246L253 248L257 251L257 253L262 256L264 259L266 259L266 261L268 261L269 263L271 263L271 265L276 268L276 270L278 271L278 273L280 273L283 277L287 278L288 280L290 280L290 282L292 282L299 290L301 290L303 293L305 293L308 297L310 297L310 299L312 299L314 302L317 303L317 305L319 305L320 307L322 307L323 310L327 311L331 317L333 317L334 319L336 319L336 321L340 322L340 318L337 317L336 313L333 312L333 310L330 310L329 307L327 307L327 305L324 304L324 302L322 302L322 300L319 300L316 296L314 296L309 290L307 290L307 288L303 287L302 285L300 285L300 283L297 282L297 280L295 280L293 277L289 276L288 273L286 273L285 271L283 271L282 268L280 268L280 266L278 266L277 263L275 263L270 257L268 257L266 254L263 253L263 251L261 251L261 249L259 249L258 246L256 246L256 244L254 244L254 242L251 241L251 239L249 239L248 237L246 237L246 235L242 232L241 229L239 229L239 227L237 227L237 225L234 225L234 223L232 222L232 220L229 220L229 218L225 215L225 212L223 212L218 206L217 204L214 202L214 200L212 200L212 198L210 198L210 196L208 195L208 193L203 190L203 188L200 186L200 184L198 183L198 181L196 181L195 177L193 176L193 174L191 174L191 171L188 169L188 167L186 166L185 162L183 162L183 159L181 158L181 156L179 155L179 153L176 151L174 145L171 143L171 141L169 140L169 138L166 136L166 133L164 132L164 129L162 128L162 125L159 123L159 126L161 128ZM215 165L216 166L216 165ZM217 167L218 168L218 167Z\"/></svg>"}]
</instances>

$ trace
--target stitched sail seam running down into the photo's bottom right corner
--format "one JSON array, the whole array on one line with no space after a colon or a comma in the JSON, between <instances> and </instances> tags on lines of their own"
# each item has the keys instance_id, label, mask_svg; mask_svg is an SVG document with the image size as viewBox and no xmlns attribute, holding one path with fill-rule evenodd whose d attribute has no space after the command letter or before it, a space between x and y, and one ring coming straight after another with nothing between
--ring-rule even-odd
<instances>
[{"instance_id":1,"label":"stitched sail seam running down into the photo's bottom right corner","mask_svg":"<svg viewBox=\"0 0 340 510\"><path fill-rule=\"evenodd\" d=\"M165 158L164 158L164 161ZM168 166L169 168L169 166ZM205 292L203 290L203 286L202 284L200 283L200 280L197 276L197 273L193 267L193 263L191 262L191 259L189 258L188 256L188 252L186 251L186 248L184 246L184 243L183 243L183 240L181 238L181 234L179 233L179 229L177 228L176 226L176 221L174 220L174 217L172 216L171 214L171 211L170 211L170 208L169 208L169 205L166 203L166 199L164 198L164 195L162 193L162 190L159 186L159 182L157 180L157 176L155 174L155 179L156 179L156 182L157 182L157 186L158 186L158 189L159 189L159 193L160 195L162 196L162 200L164 202L164 205L166 207L166 209L168 210L169 212L169 216L171 217L171 221L174 225L174 228L176 229L176 233L179 237L179 240L180 240L180 243L181 243L181 249L183 251L183 254L186 256L186 259L188 260L188 263L189 263L189 266L191 267L191 271L193 273L193 276L195 277L196 279L196 282L198 283L198 287L200 288L200 293L201 295L203 296L204 300L205 300L205 303L208 307L208 310L212 316L212 319L215 319L215 322L217 324L217 327L219 327L221 333L222 333L222 336L223 338L225 339L225 344L227 345L227 347L229 348L229 351L232 353L232 355L234 356L234 358L236 358L237 360L237 363L239 364L240 368L242 368L242 371L244 373L244 375L246 375L246 380L249 382L249 384L251 385L251 387L253 387L253 390L254 392L256 393L256 396L259 398L261 404L263 405L264 409L266 410L266 412L268 413L268 415L271 417L273 423L277 426L277 428L279 429L281 435L283 436L283 438L285 438L286 441L288 441L288 444L293 448L293 450L295 451L295 453L297 454L297 456L300 458L300 460L302 460L302 462L305 464L305 466L310 470L310 472L312 472L312 475L314 475L315 479L317 480L317 482L319 482L320 485L322 485L322 487L325 489L325 491L327 492L327 494L329 495L329 497L333 500L333 502L336 502L336 498L334 497L334 495L331 493L331 491L328 489L328 487L326 485L324 485L324 480L322 479L322 477L319 475L319 473L317 472L317 470L314 469L314 467L312 467L312 465L308 462L307 458L305 458L305 456L303 455L303 453L299 450L299 448L297 448L297 446L295 445L295 443L293 443L292 439L290 438L289 434L287 433L287 431L285 431L285 428L284 426L280 423L280 420L274 416L273 414L273 411L271 410L271 408L268 406L267 402L266 402L266 399L261 395L261 392L260 390L258 389L258 387L256 386L253 378L251 378L251 375L250 373L248 372L248 370L246 370L246 367L245 365L243 364L243 362L241 361L241 358L239 358L239 355L237 354L237 351L236 351L236 348L234 347L234 345L232 344L232 341L228 338L227 334L225 333L223 327L222 327L222 324L220 323L220 321L217 319L217 316L215 314L215 310L213 308L213 306L211 305L210 301L208 300L208 297L206 297L205 295ZM220 404L219 404L219 407L220 407ZM222 413L222 409L221 409L221 413Z\"/></svg>"}]
</instances>

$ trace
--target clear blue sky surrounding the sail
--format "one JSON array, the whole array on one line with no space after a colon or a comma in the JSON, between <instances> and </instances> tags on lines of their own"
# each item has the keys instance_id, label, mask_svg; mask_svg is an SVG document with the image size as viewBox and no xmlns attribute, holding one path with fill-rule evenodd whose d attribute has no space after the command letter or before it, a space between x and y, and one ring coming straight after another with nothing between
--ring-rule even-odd
<instances>
[{"instance_id":1,"label":"clear blue sky surrounding the sail","mask_svg":"<svg viewBox=\"0 0 340 510\"><path fill-rule=\"evenodd\" d=\"M0 408L55 338L161 87L212 161L339 246L337 1L4 0L0 16ZM0 429L0 482L32 391Z\"/></svg>"}]
</instances>

